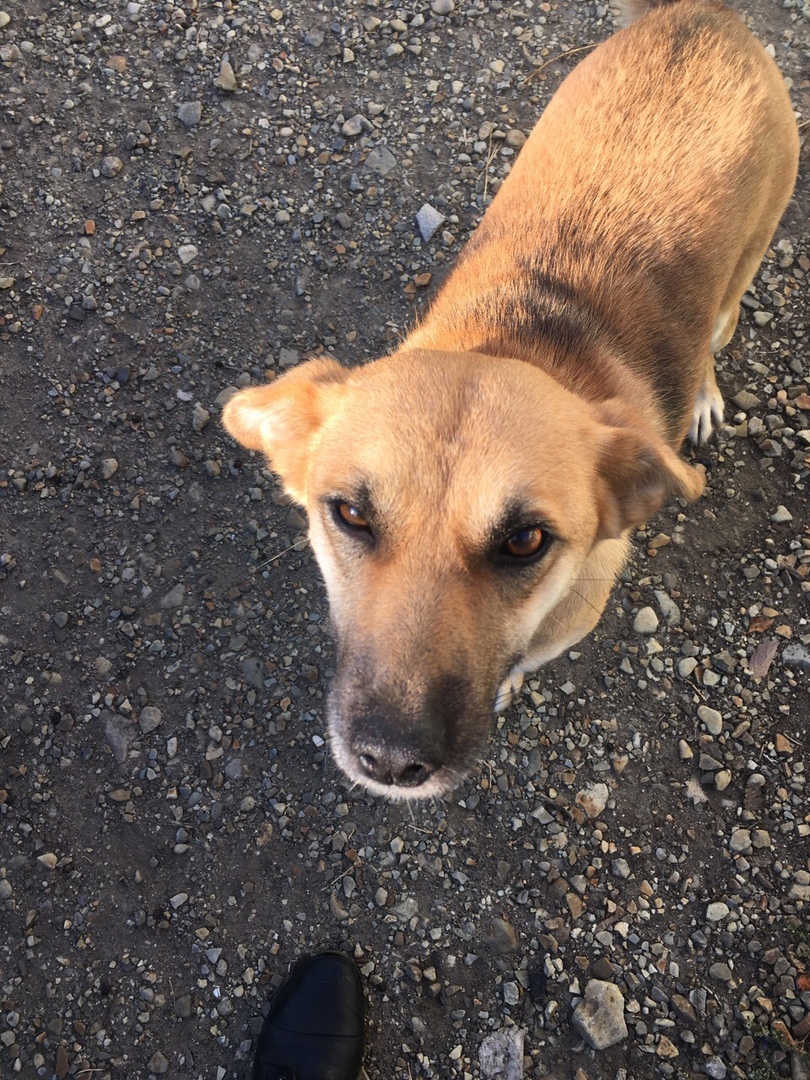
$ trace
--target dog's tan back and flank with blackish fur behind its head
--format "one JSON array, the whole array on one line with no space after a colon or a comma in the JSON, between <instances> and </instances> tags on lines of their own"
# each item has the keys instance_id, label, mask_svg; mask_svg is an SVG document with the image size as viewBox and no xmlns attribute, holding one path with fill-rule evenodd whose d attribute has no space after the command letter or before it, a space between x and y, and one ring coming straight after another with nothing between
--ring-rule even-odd
<instances>
[{"instance_id":1,"label":"dog's tan back and flank with blackish fur behind its head","mask_svg":"<svg viewBox=\"0 0 810 1080\"><path fill-rule=\"evenodd\" d=\"M517 355L591 400L621 389L618 354L678 446L789 199L798 134L734 12L646 10L631 0L632 25L554 95L406 346Z\"/></svg>"}]
</instances>

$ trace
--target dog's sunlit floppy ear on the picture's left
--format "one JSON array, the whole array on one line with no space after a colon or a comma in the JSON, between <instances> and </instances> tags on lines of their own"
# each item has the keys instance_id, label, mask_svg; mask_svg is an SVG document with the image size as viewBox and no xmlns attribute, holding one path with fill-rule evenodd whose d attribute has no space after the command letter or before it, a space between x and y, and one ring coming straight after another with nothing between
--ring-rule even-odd
<instances>
[{"instance_id":1,"label":"dog's sunlit floppy ear on the picture's left","mask_svg":"<svg viewBox=\"0 0 810 1080\"><path fill-rule=\"evenodd\" d=\"M334 360L311 360L267 386L240 390L222 409L228 433L264 450L297 502L306 501L313 443L348 376Z\"/></svg>"}]
</instances>

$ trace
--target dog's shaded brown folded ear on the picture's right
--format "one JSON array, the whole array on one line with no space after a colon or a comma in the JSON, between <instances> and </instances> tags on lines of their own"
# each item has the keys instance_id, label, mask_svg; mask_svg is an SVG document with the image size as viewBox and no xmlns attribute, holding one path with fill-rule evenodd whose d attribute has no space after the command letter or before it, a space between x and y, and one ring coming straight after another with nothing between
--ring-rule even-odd
<instances>
[{"instance_id":1,"label":"dog's shaded brown folded ear on the picture's right","mask_svg":"<svg viewBox=\"0 0 810 1080\"><path fill-rule=\"evenodd\" d=\"M597 539L616 539L646 522L670 495L691 500L703 494L703 471L687 464L630 410L606 402L597 413L606 423L599 435Z\"/></svg>"}]
</instances>

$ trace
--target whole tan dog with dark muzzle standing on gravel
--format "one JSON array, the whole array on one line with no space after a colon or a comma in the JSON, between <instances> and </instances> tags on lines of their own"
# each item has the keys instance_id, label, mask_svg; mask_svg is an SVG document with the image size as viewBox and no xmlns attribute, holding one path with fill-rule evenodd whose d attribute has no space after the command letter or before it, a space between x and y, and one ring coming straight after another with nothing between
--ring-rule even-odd
<instances>
[{"instance_id":1,"label":"whole tan dog with dark muzzle standing on gravel","mask_svg":"<svg viewBox=\"0 0 810 1080\"><path fill-rule=\"evenodd\" d=\"M393 355L310 361L228 403L309 514L353 781L457 784L499 688L596 624L627 531L701 494L677 451L721 420L712 353L797 159L782 77L739 17L656 10L565 80Z\"/></svg>"}]
</instances>

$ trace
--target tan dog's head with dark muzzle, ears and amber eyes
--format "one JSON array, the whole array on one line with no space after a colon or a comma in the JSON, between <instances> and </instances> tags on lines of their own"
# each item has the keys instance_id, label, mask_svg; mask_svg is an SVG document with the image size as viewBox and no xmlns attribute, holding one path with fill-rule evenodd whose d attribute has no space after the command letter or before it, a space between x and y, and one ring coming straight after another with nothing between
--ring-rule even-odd
<instances>
[{"instance_id":1,"label":"tan dog's head with dark muzzle, ears and amber eyes","mask_svg":"<svg viewBox=\"0 0 810 1080\"><path fill-rule=\"evenodd\" d=\"M474 353L314 360L228 402L228 431L309 515L338 644L332 745L351 780L392 798L455 786L504 676L597 621L618 569L583 585L599 552L667 492L700 494L631 420Z\"/></svg>"}]
</instances>

